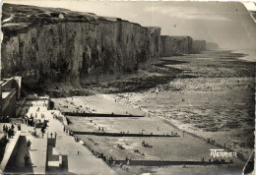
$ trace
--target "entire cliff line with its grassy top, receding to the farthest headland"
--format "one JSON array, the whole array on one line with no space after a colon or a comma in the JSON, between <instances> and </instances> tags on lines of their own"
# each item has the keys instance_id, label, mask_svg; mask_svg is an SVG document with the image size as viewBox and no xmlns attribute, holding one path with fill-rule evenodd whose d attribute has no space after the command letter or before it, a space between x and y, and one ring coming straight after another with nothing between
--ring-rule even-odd
<instances>
[{"instance_id":1,"label":"entire cliff line with its grassy top, receding to the farthest headland","mask_svg":"<svg viewBox=\"0 0 256 175\"><path fill-rule=\"evenodd\" d=\"M160 35L118 18L66 9L3 4L2 77L24 83L104 82L118 74L147 69L161 56L216 49L190 36Z\"/></svg>"}]
</instances>

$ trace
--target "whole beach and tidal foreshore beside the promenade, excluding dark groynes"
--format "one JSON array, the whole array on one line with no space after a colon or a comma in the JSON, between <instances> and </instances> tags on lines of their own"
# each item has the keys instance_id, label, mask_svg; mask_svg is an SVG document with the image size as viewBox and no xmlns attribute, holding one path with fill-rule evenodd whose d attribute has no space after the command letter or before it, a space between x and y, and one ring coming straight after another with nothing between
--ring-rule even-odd
<instances>
[{"instance_id":1,"label":"whole beach and tidal foreshore beside the promenade, excluding dark groynes","mask_svg":"<svg viewBox=\"0 0 256 175\"><path fill-rule=\"evenodd\" d=\"M80 95L52 100L61 111L72 111L79 107L78 112L90 108L91 112L119 111L125 114L131 111L145 116L142 119L67 116L70 122L68 127L72 131L96 132L98 127L103 127L104 132L140 133L144 130L145 133L162 135L176 132L180 136L176 139L76 136L90 149L117 159L200 161L202 157L206 160L211 158L211 148L224 148L238 155L232 159L234 163L222 167L128 166L129 173L200 174L203 171L239 174L254 145L255 63L239 60L242 56L241 53L221 50L166 57L149 71L140 70L137 74L126 75L110 83L77 87ZM70 86L61 88L72 92ZM53 93L56 94L56 90ZM87 94L96 95L83 96ZM66 100L69 103L73 101L74 108L64 109ZM110 104L110 107L106 107L106 104ZM141 146L144 140L153 147ZM123 146L124 150L118 145ZM144 155L134 152L135 149ZM224 159L230 161L230 158ZM118 167L114 169L119 172Z\"/></svg>"}]
</instances>

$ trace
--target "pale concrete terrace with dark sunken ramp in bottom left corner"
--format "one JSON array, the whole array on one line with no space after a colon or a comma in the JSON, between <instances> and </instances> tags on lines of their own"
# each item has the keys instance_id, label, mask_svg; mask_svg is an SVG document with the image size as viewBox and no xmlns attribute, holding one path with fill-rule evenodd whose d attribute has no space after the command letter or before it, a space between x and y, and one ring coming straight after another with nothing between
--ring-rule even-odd
<instances>
[{"instance_id":1,"label":"pale concrete terrace with dark sunken ramp in bottom left corner","mask_svg":"<svg viewBox=\"0 0 256 175\"><path fill-rule=\"evenodd\" d=\"M6 125L6 124L5 124ZM1 125L2 128L3 124ZM11 126L9 124L8 126ZM2 130L2 129L1 129ZM5 164L5 166L1 167L4 169L5 173L34 173L34 174L44 174L46 168L46 146L47 139L40 137L32 136L32 127L28 127L27 125L22 124L22 132L17 131L17 125L15 125L16 134L14 139L10 139L9 143L5 148L5 155L1 162L1 164ZM37 129L37 133L39 130ZM27 146L27 142L30 140L32 142L32 148L29 150ZM12 159L11 154L14 151L14 146L17 147L16 158ZM24 164L24 156L28 154L30 157L31 164L25 167ZM9 160L9 158L11 158ZM5 162L4 162L5 161Z\"/></svg>"}]
</instances>

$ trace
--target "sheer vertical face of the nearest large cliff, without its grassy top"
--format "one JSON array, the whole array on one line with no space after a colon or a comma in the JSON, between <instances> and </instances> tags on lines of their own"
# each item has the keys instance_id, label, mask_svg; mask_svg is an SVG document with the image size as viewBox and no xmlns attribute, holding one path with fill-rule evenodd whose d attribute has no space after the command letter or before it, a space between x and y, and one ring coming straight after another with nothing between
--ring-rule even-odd
<instances>
[{"instance_id":1,"label":"sheer vertical face of the nearest large cliff, without its grassy top","mask_svg":"<svg viewBox=\"0 0 256 175\"><path fill-rule=\"evenodd\" d=\"M14 29L10 24L3 29L2 76L22 75L28 84L107 81L147 68L160 57L160 29L120 19L74 22L62 17Z\"/></svg>"}]
</instances>

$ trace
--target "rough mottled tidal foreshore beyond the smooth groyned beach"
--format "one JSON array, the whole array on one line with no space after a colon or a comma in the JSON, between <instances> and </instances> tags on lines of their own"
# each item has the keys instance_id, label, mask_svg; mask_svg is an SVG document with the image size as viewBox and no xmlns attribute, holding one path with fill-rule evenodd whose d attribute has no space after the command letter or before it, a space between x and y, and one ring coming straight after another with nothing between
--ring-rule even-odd
<instances>
[{"instance_id":1,"label":"rough mottled tidal foreshore beyond the smooth groyned beach","mask_svg":"<svg viewBox=\"0 0 256 175\"><path fill-rule=\"evenodd\" d=\"M118 93L114 99L213 143L226 146L247 159L254 146L255 63L221 52L165 60L180 61L166 67L183 72L169 84L145 92ZM184 77L193 78L184 78ZM109 98L109 96L108 96Z\"/></svg>"}]
</instances>

